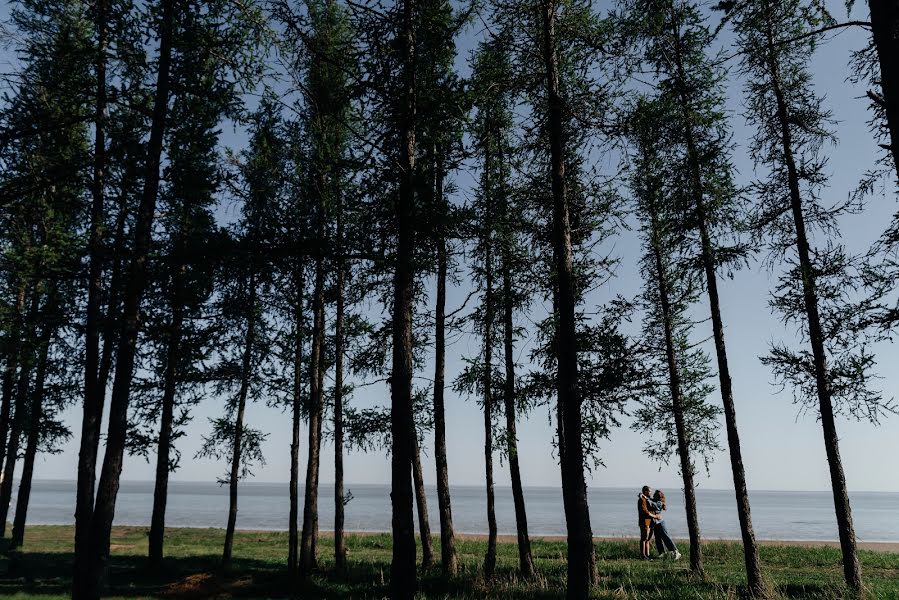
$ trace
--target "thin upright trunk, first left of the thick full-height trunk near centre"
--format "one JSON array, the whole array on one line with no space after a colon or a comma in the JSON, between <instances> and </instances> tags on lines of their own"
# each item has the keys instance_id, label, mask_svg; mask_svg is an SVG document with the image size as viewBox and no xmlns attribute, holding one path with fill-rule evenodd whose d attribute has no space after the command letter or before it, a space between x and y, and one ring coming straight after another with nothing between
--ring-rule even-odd
<instances>
[{"instance_id":1,"label":"thin upright trunk, first left of the thick full-height trunk near centre","mask_svg":"<svg viewBox=\"0 0 899 600\"><path fill-rule=\"evenodd\" d=\"M337 314L334 317L334 565L339 573L346 571L346 547L344 540L344 492L343 492L343 313L344 313L344 260L343 260L343 206L337 206Z\"/></svg>"}]
</instances>

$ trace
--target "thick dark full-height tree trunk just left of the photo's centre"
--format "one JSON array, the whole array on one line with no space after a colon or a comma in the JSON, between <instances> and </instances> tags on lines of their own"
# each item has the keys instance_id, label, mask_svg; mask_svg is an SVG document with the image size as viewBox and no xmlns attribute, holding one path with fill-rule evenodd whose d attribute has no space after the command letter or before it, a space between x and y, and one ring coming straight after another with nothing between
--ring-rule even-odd
<instances>
[{"instance_id":1,"label":"thick dark full-height tree trunk just left of the photo's centre","mask_svg":"<svg viewBox=\"0 0 899 600\"><path fill-rule=\"evenodd\" d=\"M418 590L415 572L415 524L412 509L412 304L415 238L415 0L403 0L402 107L400 157L402 180L395 206L397 246L393 274L393 356L390 377L391 529L393 556L390 595L412 600Z\"/></svg>"}]
</instances>

